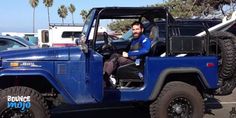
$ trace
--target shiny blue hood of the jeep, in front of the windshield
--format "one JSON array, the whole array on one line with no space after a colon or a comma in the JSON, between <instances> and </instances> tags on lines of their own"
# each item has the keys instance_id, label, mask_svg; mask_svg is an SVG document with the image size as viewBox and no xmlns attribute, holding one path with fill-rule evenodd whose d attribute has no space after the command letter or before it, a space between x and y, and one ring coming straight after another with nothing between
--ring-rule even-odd
<instances>
[{"instance_id":1,"label":"shiny blue hood of the jeep, in front of the windshield","mask_svg":"<svg viewBox=\"0 0 236 118\"><path fill-rule=\"evenodd\" d=\"M3 60L15 61L46 61L46 60L68 60L70 48L36 48L25 50L11 50L0 52Z\"/></svg>"}]
</instances>

